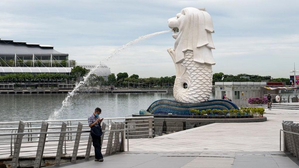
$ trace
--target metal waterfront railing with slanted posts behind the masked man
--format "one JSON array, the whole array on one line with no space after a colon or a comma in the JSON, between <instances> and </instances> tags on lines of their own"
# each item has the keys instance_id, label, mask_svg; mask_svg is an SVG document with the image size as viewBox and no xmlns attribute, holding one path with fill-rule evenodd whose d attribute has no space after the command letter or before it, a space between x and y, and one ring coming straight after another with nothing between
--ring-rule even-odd
<instances>
[{"instance_id":1,"label":"metal waterfront railing with slanted posts behind the masked man","mask_svg":"<svg viewBox=\"0 0 299 168\"><path fill-rule=\"evenodd\" d=\"M129 139L152 138L153 117L106 118L102 130L103 155L125 151L126 145L129 151ZM90 157L87 119L0 122L0 163L6 167L58 166Z\"/></svg>"}]
</instances>

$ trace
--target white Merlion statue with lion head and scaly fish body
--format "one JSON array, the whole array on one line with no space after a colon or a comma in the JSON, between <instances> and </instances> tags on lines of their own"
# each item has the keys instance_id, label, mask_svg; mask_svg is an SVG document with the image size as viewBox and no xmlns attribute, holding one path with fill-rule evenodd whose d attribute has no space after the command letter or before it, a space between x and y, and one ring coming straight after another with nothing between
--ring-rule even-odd
<instances>
[{"instance_id":1,"label":"white Merlion statue with lion head and scaly fish body","mask_svg":"<svg viewBox=\"0 0 299 168\"><path fill-rule=\"evenodd\" d=\"M182 103L207 101L212 92L214 33L212 18L205 9L187 7L168 19L174 49L168 49L176 70L173 96Z\"/></svg>"}]
</instances>

